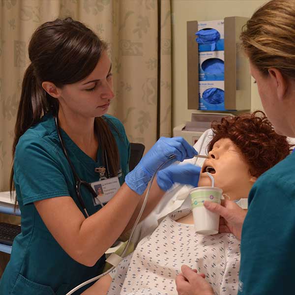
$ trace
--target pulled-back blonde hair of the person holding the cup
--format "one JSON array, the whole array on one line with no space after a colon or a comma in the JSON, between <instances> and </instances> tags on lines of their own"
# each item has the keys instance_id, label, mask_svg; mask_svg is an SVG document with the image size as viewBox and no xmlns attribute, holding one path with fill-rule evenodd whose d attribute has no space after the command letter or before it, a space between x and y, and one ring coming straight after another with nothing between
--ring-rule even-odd
<instances>
[{"instance_id":1,"label":"pulled-back blonde hair of the person holding the cup","mask_svg":"<svg viewBox=\"0 0 295 295\"><path fill-rule=\"evenodd\" d=\"M271 0L243 27L242 48L264 75L270 67L295 78L295 1Z\"/></svg>"}]
</instances>

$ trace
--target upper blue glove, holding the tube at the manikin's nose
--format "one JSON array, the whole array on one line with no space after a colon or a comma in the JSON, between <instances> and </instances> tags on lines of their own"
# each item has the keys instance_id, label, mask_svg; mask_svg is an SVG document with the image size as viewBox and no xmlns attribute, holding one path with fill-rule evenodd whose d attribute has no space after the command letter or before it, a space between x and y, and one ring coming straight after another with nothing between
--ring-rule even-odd
<instances>
[{"instance_id":1,"label":"upper blue glove, holding the tube at the manikin's nose","mask_svg":"<svg viewBox=\"0 0 295 295\"><path fill-rule=\"evenodd\" d=\"M169 160L171 155L175 155L175 158L170 160L167 165L175 161L182 162L184 159L191 159L197 154L198 152L182 137L161 137L140 160L138 165L126 175L125 182L133 191L142 195L153 174L161 164Z\"/></svg>"}]
</instances>

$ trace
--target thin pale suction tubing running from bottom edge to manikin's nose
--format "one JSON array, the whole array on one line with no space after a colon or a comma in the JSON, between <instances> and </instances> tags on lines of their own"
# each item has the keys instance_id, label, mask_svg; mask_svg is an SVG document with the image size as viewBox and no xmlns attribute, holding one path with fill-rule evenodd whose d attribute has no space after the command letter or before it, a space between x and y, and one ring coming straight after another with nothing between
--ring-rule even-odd
<instances>
[{"instance_id":1,"label":"thin pale suction tubing running from bottom edge to manikin's nose","mask_svg":"<svg viewBox=\"0 0 295 295\"><path fill-rule=\"evenodd\" d=\"M198 154L198 155L195 155L194 157L196 157L196 158L208 158L207 155L199 155L199 154ZM108 270L105 271L104 273L102 273L102 274L100 274L100 275L98 275L98 276L96 276L96 277L94 277L94 278L92 278L92 279L89 279L88 281L86 281L86 282L84 282L84 283L78 285L77 287L75 287L74 289L72 289L70 292L68 292L66 295L71 295L71 294L73 294L74 292L76 292L77 290L79 290L80 288L82 288L82 287L84 287L84 286L86 286L86 285L88 285L88 284L90 284L90 283L92 283L92 282L94 282L94 281L97 281L97 280L100 279L102 276L104 276L104 275L110 273L110 272L111 272L116 266L118 266L118 264L121 262L121 260L122 260L123 257L125 256L125 253L126 253L128 247L129 247L129 244L130 244L130 242L131 242L131 240L132 240L132 236L133 236L133 234L134 234L135 228L136 228L137 224L139 223L140 218L141 218L141 216L142 216L142 214L143 214L143 211L144 211L144 209L145 209L145 207L146 207L146 204L147 204L147 201L148 201L148 196L149 196L149 190L150 190L151 184L152 184L152 182L153 182L153 180L154 180L154 177L156 176L157 172L158 172L163 166L165 166L168 162L170 162L171 160L173 160L173 159L175 159L175 158L176 158L175 155L170 155L169 158L167 159L167 161L164 162L163 164L161 164L161 165L158 167L158 169L156 170L156 172L154 173L154 175L151 177L151 180L149 181L149 184L148 184L148 191L147 191L147 193L146 193L146 196L145 196L145 199L144 199L144 202L143 202L143 206L141 207L141 210L140 210L140 212L139 212L139 214L138 214L138 216L137 216L137 219L136 219L136 221L135 221L135 223L134 223L134 225L133 225L133 227L132 227L131 234L130 234L130 236L129 236L129 239L128 239L127 244L125 245L125 248L124 248L124 251L123 251L122 255L121 255L121 256L118 256L117 254L112 253L112 254L107 258L107 260L106 260L106 262L108 262L108 263L110 263L110 264L112 265L112 267L111 267L110 269L108 269ZM101 204L101 205L102 205L102 204ZM103 206L103 205L102 205L102 206Z\"/></svg>"}]
</instances>

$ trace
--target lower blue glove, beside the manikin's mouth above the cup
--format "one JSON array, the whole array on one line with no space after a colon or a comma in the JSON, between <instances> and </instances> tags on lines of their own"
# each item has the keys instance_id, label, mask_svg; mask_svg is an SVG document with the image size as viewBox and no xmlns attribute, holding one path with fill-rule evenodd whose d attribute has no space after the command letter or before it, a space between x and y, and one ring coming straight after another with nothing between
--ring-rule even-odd
<instances>
[{"instance_id":1,"label":"lower blue glove, beside the manikin's mouth above the cup","mask_svg":"<svg viewBox=\"0 0 295 295\"><path fill-rule=\"evenodd\" d=\"M157 173L158 186L167 191L174 183L198 186L201 167L192 164L172 165Z\"/></svg>"}]
</instances>

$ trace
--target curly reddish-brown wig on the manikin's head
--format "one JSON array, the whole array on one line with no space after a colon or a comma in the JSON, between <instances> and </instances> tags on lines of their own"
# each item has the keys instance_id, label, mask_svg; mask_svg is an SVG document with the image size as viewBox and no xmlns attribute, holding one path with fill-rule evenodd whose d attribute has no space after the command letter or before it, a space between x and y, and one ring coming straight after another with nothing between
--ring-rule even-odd
<instances>
[{"instance_id":1,"label":"curly reddish-brown wig on the manikin's head","mask_svg":"<svg viewBox=\"0 0 295 295\"><path fill-rule=\"evenodd\" d=\"M242 152L250 166L250 174L255 177L283 160L291 150L287 137L275 133L262 111L225 117L221 122L213 121L211 128L214 137L208 145L208 151L212 150L218 140L230 139Z\"/></svg>"}]
</instances>

